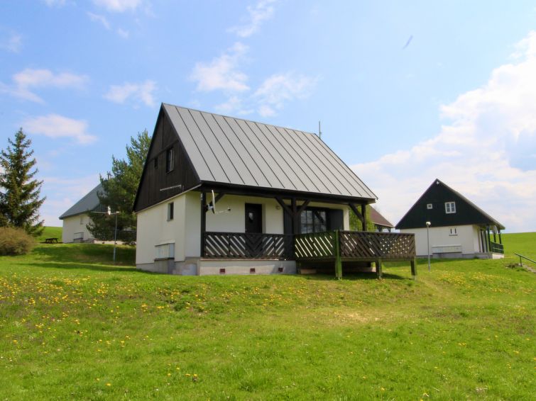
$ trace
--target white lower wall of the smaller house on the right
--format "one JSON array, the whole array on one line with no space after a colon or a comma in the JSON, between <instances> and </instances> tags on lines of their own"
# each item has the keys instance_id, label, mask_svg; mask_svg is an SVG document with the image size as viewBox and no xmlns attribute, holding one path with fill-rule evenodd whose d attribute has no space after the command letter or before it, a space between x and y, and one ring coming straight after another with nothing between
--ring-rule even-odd
<instances>
[{"instance_id":1,"label":"white lower wall of the smaller house on the right","mask_svg":"<svg viewBox=\"0 0 536 401\"><path fill-rule=\"evenodd\" d=\"M456 228L456 235L451 235L451 228ZM400 232L415 234L415 247L417 256L426 256L427 230L426 228L412 228ZM462 254L477 254L479 251L478 226L457 225L452 227L430 227L430 249L432 247L461 246Z\"/></svg>"}]
</instances>

